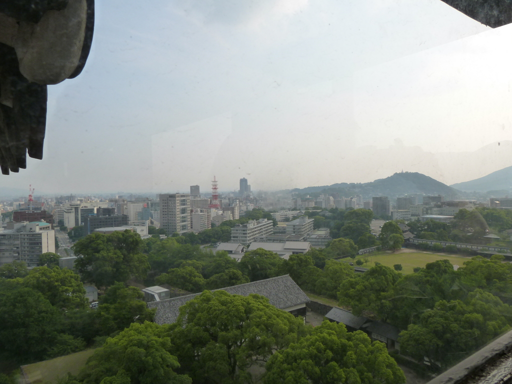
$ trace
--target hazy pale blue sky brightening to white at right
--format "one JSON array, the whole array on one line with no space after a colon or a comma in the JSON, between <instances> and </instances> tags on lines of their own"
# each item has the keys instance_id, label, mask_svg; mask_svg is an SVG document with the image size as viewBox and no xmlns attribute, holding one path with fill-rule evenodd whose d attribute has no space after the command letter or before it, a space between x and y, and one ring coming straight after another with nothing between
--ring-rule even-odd
<instances>
[{"instance_id":1,"label":"hazy pale blue sky brightening to white at right","mask_svg":"<svg viewBox=\"0 0 512 384\"><path fill-rule=\"evenodd\" d=\"M511 39L440 0L96 2L44 159L0 192L482 177L512 165Z\"/></svg>"}]
</instances>

